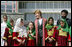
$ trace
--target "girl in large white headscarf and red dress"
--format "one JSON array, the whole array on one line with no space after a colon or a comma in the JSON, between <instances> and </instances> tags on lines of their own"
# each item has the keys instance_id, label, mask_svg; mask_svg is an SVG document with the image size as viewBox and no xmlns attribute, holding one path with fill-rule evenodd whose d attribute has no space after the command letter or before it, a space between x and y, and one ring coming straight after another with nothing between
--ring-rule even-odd
<instances>
[{"instance_id":1,"label":"girl in large white headscarf and red dress","mask_svg":"<svg viewBox=\"0 0 72 47\"><path fill-rule=\"evenodd\" d=\"M18 18L13 31L13 46L25 46L25 40L27 37L26 28L24 27L23 19Z\"/></svg>"}]
</instances>

